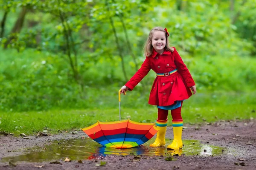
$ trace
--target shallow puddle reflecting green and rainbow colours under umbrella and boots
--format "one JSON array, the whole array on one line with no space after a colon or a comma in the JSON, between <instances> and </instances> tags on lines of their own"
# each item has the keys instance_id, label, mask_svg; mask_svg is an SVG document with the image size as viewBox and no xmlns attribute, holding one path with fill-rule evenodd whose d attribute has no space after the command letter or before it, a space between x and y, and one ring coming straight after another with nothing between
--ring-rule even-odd
<instances>
[{"instance_id":1,"label":"shallow puddle reflecting green and rainbow colours under umbrella and boots","mask_svg":"<svg viewBox=\"0 0 256 170\"><path fill-rule=\"evenodd\" d=\"M183 140L182 150L166 150L168 144L172 143L172 140L166 140L166 147L149 147L149 144L153 143L155 139L151 139L143 146L128 148L128 149L115 149L110 147L102 147L101 144L94 142L92 139L70 139L54 141L52 144L45 147L33 147L28 149L29 153L19 156L5 157L0 160L1 162L17 162L17 161L29 161L29 162L42 162L59 160L68 157L71 160L84 160L94 159L106 156L107 154L116 155L146 155L146 156L161 156L161 155L200 155L200 156L218 156L222 154L222 147L216 147L208 144L201 144L195 140ZM206 150L206 151L205 151Z\"/></svg>"}]
</instances>

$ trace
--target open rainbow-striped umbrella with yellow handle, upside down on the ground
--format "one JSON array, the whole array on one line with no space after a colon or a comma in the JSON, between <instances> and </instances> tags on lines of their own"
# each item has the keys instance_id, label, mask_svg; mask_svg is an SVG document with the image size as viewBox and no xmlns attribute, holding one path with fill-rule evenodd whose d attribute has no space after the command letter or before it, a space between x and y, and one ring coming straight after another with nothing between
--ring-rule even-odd
<instances>
[{"instance_id":1,"label":"open rainbow-striped umbrella with yellow handle, upside down on the ground","mask_svg":"<svg viewBox=\"0 0 256 170\"><path fill-rule=\"evenodd\" d=\"M121 95L119 90L119 121L97 122L83 128L91 139L105 147L119 149L136 147L147 142L158 131L154 123L138 123L131 120L121 121Z\"/></svg>"}]
</instances>

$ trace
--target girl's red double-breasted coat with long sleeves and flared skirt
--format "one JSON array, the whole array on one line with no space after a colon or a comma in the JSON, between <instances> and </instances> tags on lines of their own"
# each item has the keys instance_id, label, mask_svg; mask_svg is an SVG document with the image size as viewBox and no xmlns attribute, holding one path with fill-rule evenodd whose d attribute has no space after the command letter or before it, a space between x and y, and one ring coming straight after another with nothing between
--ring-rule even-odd
<instances>
[{"instance_id":1,"label":"girl's red double-breasted coat with long sleeves and flared skirt","mask_svg":"<svg viewBox=\"0 0 256 170\"><path fill-rule=\"evenodd\" d=\"M153 54L146 57L141 68L125 85L132 91L150 69L156 73L166 73L176 68L178 71L170 76L157 76L155 78L148 101L150 105L169 106L177 100L188 99L192 95L189 87L195 85L188 68L176 49L173 52L164 51L161 55L153 50Z\"/></svg>"}]
</instances>

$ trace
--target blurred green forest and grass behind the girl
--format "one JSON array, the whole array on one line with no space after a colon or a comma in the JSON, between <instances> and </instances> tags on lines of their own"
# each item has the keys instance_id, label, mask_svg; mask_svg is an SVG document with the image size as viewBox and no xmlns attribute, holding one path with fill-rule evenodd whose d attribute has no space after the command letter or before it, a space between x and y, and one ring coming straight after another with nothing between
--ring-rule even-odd
<instances>
[{"instance_id":1,"label":"blurred green forest and grass behind the girl","mask_svg":"<svg viewBox=\"0 0 256 170\"><path fill-rule=\"evenodd\" d=\"M0 130L43 114L42 126L119 120L118 90L140 68L155 26L168 29L195 79L198 93L183 107L189 121L253 119L255 9L256 0L0 0ZM122 96L122 119L154 122L154 78L150 71Z\"/></svg>"}]
</instances>

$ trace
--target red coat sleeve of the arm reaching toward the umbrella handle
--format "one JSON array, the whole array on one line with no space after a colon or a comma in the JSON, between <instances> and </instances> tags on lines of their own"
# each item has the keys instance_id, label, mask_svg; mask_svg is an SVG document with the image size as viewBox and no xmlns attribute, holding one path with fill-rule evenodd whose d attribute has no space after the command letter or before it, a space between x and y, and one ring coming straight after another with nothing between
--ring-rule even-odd
<instances>
[{"instance_id":1,"label":"red coat sleeve of the arm reaching toward the umbrella handle","mask_svg":"<svg viewBox=\"0 0 256 170\"><path fill-rule=\"evenodd\" d=\"M133 77L125 84L129 88L129 91L132 91L134 87L148 74L151 67L149 64L149 59L146 57L140 69L134 74Z\"/></svg>"}]
</instances>

